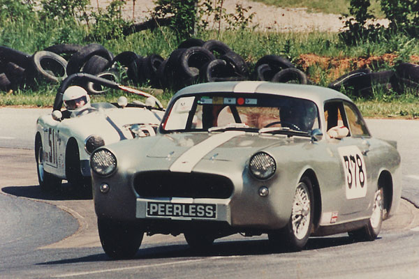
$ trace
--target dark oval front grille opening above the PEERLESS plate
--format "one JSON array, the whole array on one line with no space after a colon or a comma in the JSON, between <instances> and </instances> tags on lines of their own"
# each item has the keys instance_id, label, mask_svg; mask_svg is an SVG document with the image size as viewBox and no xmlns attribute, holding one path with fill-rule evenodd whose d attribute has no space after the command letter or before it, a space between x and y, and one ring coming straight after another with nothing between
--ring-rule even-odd
<instances>
[{"instance_id":1,"label":"dark oval front grille opening above the PEERLESS plate","mask_svg":"<svg viewBox=\"0 0 419 279\"><path fill-rule=\"evenodd\" d=\"M227 177L194 172L142 172L135 176L134 188L141 197L226 199L233 194Z\"/></svg>"}]
</instances>

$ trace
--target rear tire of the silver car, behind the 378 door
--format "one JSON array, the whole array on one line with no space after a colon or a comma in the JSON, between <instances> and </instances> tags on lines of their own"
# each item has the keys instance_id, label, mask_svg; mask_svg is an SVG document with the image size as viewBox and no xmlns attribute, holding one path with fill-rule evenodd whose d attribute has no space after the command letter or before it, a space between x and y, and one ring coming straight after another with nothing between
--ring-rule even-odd
<instances>
[{"instance_id":1,"label":"rear tire of the silver car, behind the 378 door","mask_svg":"<svg viewBox=\"0 0 419 279\"><path fill-rule=\"evenodd\" d=\"M379 197L377 197L377 195ZM380 199L380 206L379 206L379 213L377 213L377 216L379 217L378 220L376 220L376 224L373 224L372 218L369 219L369 222L365 227L362 227L360 229L357 229L355 231L348 232L349 236L352 236L353 239L357 241L374 241L374 239L377 238L378 234L381 232L381 225L383 225L383 190L377 190L375 196L374 196L374 204L376 202L376 198ZM374 214L374 213L373 213Z\"/></svg>"}]
</instances>

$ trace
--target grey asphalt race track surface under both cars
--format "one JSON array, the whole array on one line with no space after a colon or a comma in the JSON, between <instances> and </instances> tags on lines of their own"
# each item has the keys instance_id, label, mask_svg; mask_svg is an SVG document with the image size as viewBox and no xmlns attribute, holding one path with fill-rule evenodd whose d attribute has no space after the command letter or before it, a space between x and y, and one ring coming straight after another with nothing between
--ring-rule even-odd
<instances>
[{"instance_id":1,"label":"grey asphalt race track surface under both cars","mask_svg":"<svg viewBox=\"0 0 419 279\"><path fill-rule=\"evenodd\" d=\"M236 235L196 253L182 236L151 236L135 259L111 261L91 200L68 185L38 189L34 123L45 111L0 109L0 278L419 278L419 121L367 121L374 136L399 142L403 165L402 205L376 241L339 234L290 253L272 252L265 236Z\"/></svg>"}]
</instances>

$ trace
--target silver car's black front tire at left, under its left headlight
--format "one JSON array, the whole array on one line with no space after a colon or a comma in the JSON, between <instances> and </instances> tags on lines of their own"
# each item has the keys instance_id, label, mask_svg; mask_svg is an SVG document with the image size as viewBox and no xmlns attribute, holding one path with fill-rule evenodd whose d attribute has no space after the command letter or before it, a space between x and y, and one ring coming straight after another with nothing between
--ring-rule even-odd
<instances>
[{"instance_id":1,"label":"silver car's black front tire at left, under its left headlight","mask_svg":"<svg viewBox=\"0 0 419 279\"><path fill-rule=\"evenodd\" d=\"M107 219L98 219L102 248L112 259L130 259L140 248L144 232L140 227Z\"/></svg>"}]
</instances>

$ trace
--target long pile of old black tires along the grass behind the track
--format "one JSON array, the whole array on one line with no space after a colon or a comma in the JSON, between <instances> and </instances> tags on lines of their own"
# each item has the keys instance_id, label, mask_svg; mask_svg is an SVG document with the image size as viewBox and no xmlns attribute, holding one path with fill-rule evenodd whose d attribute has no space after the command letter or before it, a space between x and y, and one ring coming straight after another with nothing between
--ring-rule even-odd
<instances>
[{"instance_id":1,"label":"long pile of old black tires along the grass behind the track","mask_svg":"<svg viewBox=\"0 0 419 279\"><path fill-rule=\"evenodd\" d=\"M41 81L57 84L73 73L175 90L199 82L230 80L313 84L302 70L282 56L268 54L250 65L219 40L189 38L179 43L167 58L159 54L140 56L131 51L114 56L96 43L52 45L33 55L0 46L0 91L36 85ZM78 85L91 94L105 93L97 84ZM400 93L406 87L417 90L419 65L401 63L395 70L381 72L367 68L353 70L328 84L331 89L353 96L370 96L377 86Z\"/></svg>"}]
</instances>

